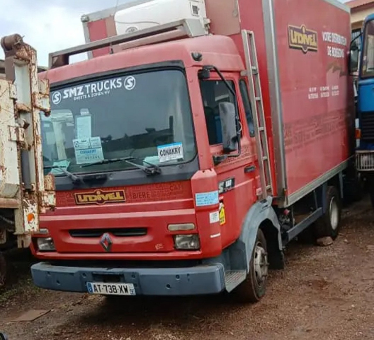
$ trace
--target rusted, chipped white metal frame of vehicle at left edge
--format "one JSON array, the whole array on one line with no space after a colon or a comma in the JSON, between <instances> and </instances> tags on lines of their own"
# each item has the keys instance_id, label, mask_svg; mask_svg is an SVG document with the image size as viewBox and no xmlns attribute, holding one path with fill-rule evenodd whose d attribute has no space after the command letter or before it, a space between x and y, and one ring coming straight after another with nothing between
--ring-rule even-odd
<instances>
[{"instance_id":1,"label":"rusted, chipped white metal frame of vehicle at left edge","mask_svg":"<svg viewBox=\"0 0 374 340\"><path fill-rule=\"evenodd\" d=\"M36 51L19 34L1 46L7 80L0 80L0 208L15 209L18 246L28 247L40 214L56 204L54 177L43 174L40 132L40 112L50 114L49 83L39 81Z\"/></svg>"}]
</instances>

